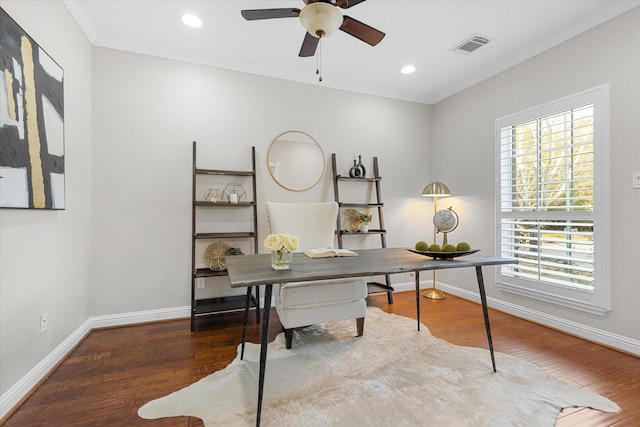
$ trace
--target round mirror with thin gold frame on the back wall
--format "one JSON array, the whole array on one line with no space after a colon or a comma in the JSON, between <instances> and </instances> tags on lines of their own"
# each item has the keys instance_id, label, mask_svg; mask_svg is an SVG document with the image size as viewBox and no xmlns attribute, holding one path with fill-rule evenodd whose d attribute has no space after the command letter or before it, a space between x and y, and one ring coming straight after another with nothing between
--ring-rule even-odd
<instances>
[{"instance_id":1,"label":"round mirror with thin gold frame on the back wall","mask_svg":"<svg viewBox=\"0 0 640 427\"><path fill-rule=\"evenodd\" d=\"M305 191L316 185L324 174L324 162L322 148L304 132L278 135L267 152L269 173L291 191Z\"/></svg>"}]
</instances>

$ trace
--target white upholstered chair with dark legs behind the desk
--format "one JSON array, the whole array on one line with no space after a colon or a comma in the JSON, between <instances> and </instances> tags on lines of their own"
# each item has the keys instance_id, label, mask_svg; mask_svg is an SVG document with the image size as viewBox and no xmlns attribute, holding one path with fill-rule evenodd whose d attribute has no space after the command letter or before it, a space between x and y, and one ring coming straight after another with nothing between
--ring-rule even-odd
<instances>
[{"instance_id":1,"label":"white upholstered chair with dark legs behind the desk","mask_svg":"<svg viewBox=\"0 0 640 427\"><path fill-rule=\"evenodd\" d=\"M271 233L295 235L300 252L334 246L338 209L336 202L267 202ZM356 319L357 336L364 332L367 283L362 278L285 283L274 286L274 293L287 348L294 328L318 323Z\"/></svg>"}]
</instances>

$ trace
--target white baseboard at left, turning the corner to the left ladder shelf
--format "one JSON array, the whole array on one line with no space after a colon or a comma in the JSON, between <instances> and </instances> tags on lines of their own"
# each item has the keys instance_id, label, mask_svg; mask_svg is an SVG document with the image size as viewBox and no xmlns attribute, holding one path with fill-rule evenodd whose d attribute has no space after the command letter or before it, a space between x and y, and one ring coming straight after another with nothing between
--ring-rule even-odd
<instances>
[{"instance_id":1,"label":"white baseboard at left, turning the corner to the left ladder shelf","mask_svg":"<svg viewBox=\"0 0 640 427\"><path fill-rule=\"evenodd\" d=\"M111 326L131 325L135 323L155 322L189 317L191 308L174 307L160 310L148 310L135 313L95 316L87 319L67 339L58 345L47 357L40 361L16 384L0 396L0 419L7 415L20 401L38 385L63 360L73 348L93 329Z\"/></svg>"}]
</instances>

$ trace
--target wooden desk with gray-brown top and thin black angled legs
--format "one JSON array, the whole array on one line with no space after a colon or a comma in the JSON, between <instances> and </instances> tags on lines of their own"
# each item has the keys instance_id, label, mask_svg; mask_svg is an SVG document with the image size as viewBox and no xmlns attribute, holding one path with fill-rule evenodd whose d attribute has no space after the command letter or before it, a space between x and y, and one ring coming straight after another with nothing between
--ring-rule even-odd
<instances>
[{"instance_id":1,"label":"wooden desk with gray-brown top and thin black angled legs","mask_svg":"<svg viewBox=\"0 0 640 427\"><path fill-rule=\"evenodd\" d=\"M258 412L256 426L260 425L262 411L262 395L264 389L264 372L267 362L267 340L269 334L269 312L271 308L271 296L274 283L306 282L313 280L337 279L344 277L377 276L383 274L414 272L416 283L416 310L418 330L420 330L420 272L428 270L444 270L449 268L475 267L478 280L478 289L482 301L482 312L487 330L487 340L491 353L493 371L496 372L496 362L493 354L493 342L491 340L491 327L489 324L489 311L487 308L487 296L482 277L482 267L499 264L513 264L517 262L509 258L469 256L467 258L455 258L453 260L432 259L410 252L404 248L381 248L358 250L357 257L320 258L311 259L302 253L293 254L291 270L273 270L271 268L271 255L245 255L232 256L225 259L231 287L247 287L247 293L251 287L265 285L264 313L262 317L262 334L260 341L260 374L258 379ZM245 308L244 327L242 332L241 358L244 356L247 323L249 319L249 306ZM365 332L366 333L366 332Z\"/></svg>"}]
</instances>

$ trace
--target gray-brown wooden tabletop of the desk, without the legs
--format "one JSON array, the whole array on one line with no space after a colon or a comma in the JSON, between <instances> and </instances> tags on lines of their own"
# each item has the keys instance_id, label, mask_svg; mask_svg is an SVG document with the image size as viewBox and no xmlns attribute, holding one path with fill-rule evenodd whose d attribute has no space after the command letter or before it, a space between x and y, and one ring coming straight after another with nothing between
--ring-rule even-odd
<instances>
[{"instance_id":1,"label":"gray-brown wooden tabletop of the desk, without the legs","mask_svg":"<svg viewBox=\"0 0 640 427\"><path fill-rule=\"evenodd\" d=\"M270 254L229 256L225 262L233 288L517 262L511 258L478 255L433 259L406 248L361 249L356 252L357 257L334 258L309 258L303 253L294 253L291 270L272 269Z\"/></svg>"}]
</instances>

